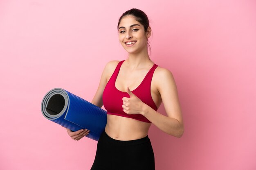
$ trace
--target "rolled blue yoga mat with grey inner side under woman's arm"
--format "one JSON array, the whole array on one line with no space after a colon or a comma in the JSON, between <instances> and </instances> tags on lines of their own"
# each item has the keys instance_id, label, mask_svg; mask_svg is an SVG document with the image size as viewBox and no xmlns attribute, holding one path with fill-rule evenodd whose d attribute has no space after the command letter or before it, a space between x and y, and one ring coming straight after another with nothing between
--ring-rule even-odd
<instances>
[{"instance_id":1,"label":"rolled blue yoga mat with grey inner side under woman's arm","mask_svg":"<svg viewBox=\"0 0 256 170\"><path fill-rule=\"evenodd\" d=\"M41 104L43 116L72 131L88 129L86 135L99 140L107 123L107 112L61 88L50 90Z\"/></svg>"}]
</instances>

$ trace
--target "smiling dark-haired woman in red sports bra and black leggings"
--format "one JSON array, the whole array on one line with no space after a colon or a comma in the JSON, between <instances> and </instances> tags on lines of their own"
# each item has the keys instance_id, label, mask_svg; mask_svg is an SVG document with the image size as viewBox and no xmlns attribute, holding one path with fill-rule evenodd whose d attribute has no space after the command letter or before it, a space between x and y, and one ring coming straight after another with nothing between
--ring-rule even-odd
<instances>
[{"instance_id":1,"label":"smiling dark-haired woman in red sports bra and black leggings","mask_svg":"<svg viewBox=\"0 0 256 170\"><path fill-rule=\"evenodd\" d=\"M91 170L155 170L148 138L150 125L175 137L181 137L184 131L177 88L171 72L149 58L151 28L143 11L123 13L118 31L128 58L106 64L92 99L94 105L104 105L108 112ZM157 112L162 102L167 116ZM67 133L79 140L89 130L67 129Z\"/></svg>"}]
</instances>

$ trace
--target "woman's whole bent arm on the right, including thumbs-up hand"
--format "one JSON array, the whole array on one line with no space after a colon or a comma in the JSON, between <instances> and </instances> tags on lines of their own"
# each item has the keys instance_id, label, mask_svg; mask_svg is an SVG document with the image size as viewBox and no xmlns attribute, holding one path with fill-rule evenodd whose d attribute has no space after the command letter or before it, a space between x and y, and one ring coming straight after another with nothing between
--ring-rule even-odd
<instances>
[{"instance_id":1,"label":"woman's whole bent arm on the right, including thumbs-up hand","mask_svg":"<svg viewBox=\"0 0 256 170\"><path fill-rule=\"evenodd\" d=\"M184 132L184 126L177 87L173 75L165 68L159 68L155 73L157 90L161 95L167 116L162 115L146 105L135 96L129 88L127 88L127 92L130 98L123 98L124 112L127 114L140 113L165 133L175 137L181 137Z\"/></svg>"}]
</instances>

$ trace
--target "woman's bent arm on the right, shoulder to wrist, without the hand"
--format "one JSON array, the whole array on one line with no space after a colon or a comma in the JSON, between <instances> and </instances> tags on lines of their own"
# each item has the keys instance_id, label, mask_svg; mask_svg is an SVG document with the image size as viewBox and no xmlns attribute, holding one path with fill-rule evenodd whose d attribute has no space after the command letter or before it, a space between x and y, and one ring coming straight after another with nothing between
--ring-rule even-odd
<instances>
[{"instance_id":1,"label":"woman's bent arm on the right, shoulder to wrist, without the hand","mask_svg":"<svg viewBox=\"0 0 256 170\"><path fill-rule=\"evenodd\" d=\"M145 103L142 105L141 114L165 133L181 137L184 132L183 118L173 74L167 69L160 68L156 82L167 116L158 113Z\"/></svg>"}]
</instances>

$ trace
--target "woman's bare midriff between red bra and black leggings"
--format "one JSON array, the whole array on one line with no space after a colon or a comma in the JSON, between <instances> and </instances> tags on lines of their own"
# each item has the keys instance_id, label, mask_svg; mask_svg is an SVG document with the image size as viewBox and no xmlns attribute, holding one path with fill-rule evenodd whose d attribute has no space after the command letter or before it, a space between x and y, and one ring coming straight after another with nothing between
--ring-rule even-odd
<instances>
[{"instance_id":1,"label":"woman's bare midriff between red bra and black leggings","mask_svg":"<svg viewBox=\"0 0 256 170\"><path fill-rule=\"evenodd\" d=\"M151 123L109 114L105 131L116 140L135 140L146 137L150 126Z\"/></svg>"}]
</instances>

